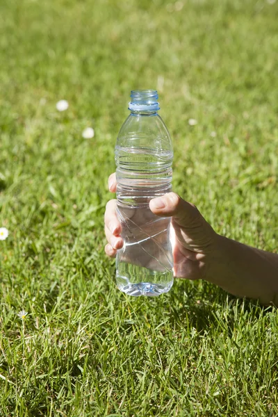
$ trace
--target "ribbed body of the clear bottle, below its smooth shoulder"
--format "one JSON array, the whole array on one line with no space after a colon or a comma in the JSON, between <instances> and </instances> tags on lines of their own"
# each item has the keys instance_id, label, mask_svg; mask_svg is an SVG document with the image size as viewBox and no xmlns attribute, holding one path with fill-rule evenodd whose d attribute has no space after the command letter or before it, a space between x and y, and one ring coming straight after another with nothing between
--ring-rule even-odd
<instances>
[{"instance_id":1,"label":"ribbed body of the clear bottle, below its smooth shoulder","mask_svg":"<svg viewBox=\"0 0 278 417\"><path fill-rule=\"evenodd\" d=\"M149 201L171 191L172 151L115 147L117 217L124 247L117 251L117 286L129 295L167 293L173 284L170 218L149 209Z\"/></svg>"}]
</instances>

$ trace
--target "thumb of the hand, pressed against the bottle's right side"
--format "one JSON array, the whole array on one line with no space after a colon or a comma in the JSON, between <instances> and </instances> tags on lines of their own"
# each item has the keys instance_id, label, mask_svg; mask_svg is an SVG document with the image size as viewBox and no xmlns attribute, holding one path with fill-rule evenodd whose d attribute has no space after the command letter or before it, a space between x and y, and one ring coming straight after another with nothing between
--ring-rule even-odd
<instances>
[{"instance_id":1,"label":"thumb of the hand, pressed against the bottle's right side","mask_svg":"<svg viewBox=\"0 0 278 417\"><path fill-rule=\"evenodd\" d=\"M184 201L176 193L167 193L149 202L149 208L156 215L172 216L177 224L189 225L193 220L201 217L198 209L191 203Z\"/></svg>"}]
</instances>

